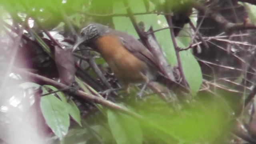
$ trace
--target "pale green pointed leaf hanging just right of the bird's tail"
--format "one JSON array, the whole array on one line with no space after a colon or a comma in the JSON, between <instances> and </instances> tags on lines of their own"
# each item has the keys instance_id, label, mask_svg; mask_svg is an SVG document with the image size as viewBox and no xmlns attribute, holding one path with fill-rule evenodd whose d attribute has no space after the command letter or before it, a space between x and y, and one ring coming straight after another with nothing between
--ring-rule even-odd
<instances>
[{"instance_id":1,"label":"pale green pointed leaf hanging just right of the bird's tail","mask_svg":"<svg viewBox=\"0 0 256 144\"><path fill-rule=\"evenodd\" d=\"M180 52L181 65L185 78L190 86L192 95L196 95L202 84L202 71L201 68L189 50Z\"/></svg>"}]
</instances>

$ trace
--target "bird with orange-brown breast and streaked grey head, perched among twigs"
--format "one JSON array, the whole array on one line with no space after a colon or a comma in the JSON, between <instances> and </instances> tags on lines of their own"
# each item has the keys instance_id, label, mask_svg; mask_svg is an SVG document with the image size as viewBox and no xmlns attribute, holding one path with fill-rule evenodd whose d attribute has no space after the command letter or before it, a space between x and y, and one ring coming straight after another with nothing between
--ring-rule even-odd
<instances>
[{"instance_id":1,"label":"bird with orange-brown breast and streaked grey head, perched among twigs","mask_svg":"<svg viewBox=\"0 0 256 144\"><path fill-rule=\"evenodd\" d=\"M125 32L91 23L82 28L73 50L80 44L94 44L125 90L132 83L147 84L156 81L159 76L164 77L153 54L140 41Z\"/></svg>"}]
</instances>

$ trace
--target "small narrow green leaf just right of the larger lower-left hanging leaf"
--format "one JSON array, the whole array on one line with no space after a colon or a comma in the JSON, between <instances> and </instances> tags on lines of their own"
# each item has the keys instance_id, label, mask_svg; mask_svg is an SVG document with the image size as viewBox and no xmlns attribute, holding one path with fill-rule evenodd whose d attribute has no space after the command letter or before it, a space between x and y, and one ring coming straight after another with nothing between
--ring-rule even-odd
<instances>
[{"instance_id":1,"label":"small narrow green leaf just right of the larger lower-left hanging leaf","mask_svg":"<svg viewBox=\"0 0 256 144\"><path fill-rule=\"evenodd\" d=\"M68 102L69 106L68 106L68 113L70 114L70 116L80 125L81 124L81 115L80 115L80 111L78 109L78 107L76 106L76 104L74 103L73 100L70 100Z\"/></svg>"}]
</instances>

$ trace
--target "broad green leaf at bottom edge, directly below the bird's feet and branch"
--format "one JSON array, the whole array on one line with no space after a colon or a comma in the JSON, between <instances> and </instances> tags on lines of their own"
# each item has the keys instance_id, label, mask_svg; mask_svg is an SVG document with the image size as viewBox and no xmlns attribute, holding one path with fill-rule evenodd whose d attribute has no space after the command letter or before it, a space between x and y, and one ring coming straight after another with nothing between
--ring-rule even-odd
<instances>
[{"instance_id":1,"label":"broad green leaf at bottom edge, directly below the bird's feet and branch","mask_svg":"<svg viewBox=\"0 0 256 144\"><path fill-rule=\"evenodd\" d=\"M108 124L117 144L142 144L142 131L132 117L108 110Z\"/></svg>"}]
</instances>

